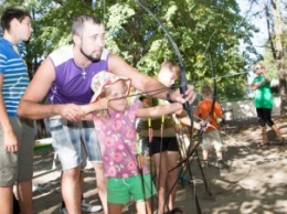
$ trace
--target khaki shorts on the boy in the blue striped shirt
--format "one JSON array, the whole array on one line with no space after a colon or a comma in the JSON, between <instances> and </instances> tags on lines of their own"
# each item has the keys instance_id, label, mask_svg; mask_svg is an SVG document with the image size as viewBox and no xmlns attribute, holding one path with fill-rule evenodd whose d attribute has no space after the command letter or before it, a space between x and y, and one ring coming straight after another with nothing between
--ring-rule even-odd
<instances>
[{"instance_id":1,"label":"khaki shorts on the boy in the blue striped shirt","mask_svg":"<svg viewBox=\"0 0 287 214\"><path fill-rule=\"evenodd\" d=\"M15 181L31 181L33 178L33 121L18 117L9 119L19 142L19 151L7 152L0 125L0 186L11 186Z\"/></svg>"}]
</instances>

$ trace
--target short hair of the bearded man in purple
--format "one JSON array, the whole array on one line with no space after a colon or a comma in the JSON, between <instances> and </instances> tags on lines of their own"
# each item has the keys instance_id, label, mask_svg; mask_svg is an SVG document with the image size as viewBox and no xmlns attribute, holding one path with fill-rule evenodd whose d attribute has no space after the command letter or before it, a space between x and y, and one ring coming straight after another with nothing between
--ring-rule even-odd
<instances>
[{"instance_id":1,"label":"short hair of the bearded man in purple","mask_svg":"<svg viewBox=\"0 0 287 214\"><path fill-rule=\"evenodd\" d=\"M73 20L73 25L72 25L72 33L73 35L78 35L82 36L83 34L83 28L85 22L91 22L93 24L102 24L102 21L93 15L89 14L83 14L79 17L76 17Z\"/></svg>"}]
</instances>

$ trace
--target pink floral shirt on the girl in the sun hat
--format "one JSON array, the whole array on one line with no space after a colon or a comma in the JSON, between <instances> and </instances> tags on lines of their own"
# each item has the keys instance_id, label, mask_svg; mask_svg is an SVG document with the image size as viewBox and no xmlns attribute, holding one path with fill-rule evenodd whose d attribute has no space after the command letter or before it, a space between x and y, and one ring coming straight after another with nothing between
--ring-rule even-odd
<instances>
[{"instance_id":1,"label":"pink floral shirt on the girl in the sun hat","mask_svg":"<svg viewBox=\"0 0 287 214\"><path fill-rule=\"evenodd\" d=\"M104 174L109 178L128 178L139 174L137 159L136 101L124 113L111 111L110 117L94 118L96 135L100 145ZM144 173L148 172L142 164Z\"/></svg>"}]
</instances>

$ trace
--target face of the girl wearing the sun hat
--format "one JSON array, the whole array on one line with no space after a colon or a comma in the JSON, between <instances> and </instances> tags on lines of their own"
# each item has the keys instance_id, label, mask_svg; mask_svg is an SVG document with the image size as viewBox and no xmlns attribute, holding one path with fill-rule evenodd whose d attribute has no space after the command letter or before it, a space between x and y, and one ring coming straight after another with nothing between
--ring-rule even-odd
<instances>
[{"instance_id":1,"label":"face of the girl wearing the sun hat","mask_svg":"<svg viewBox=\"0 0 287 214\"><path fill-rule=\"evenodd\" d=\"M124 111L127 107L128 86L125 81L118 81L108 87L106 98L109 99L108 108Z\"/></svg>"}]
</instances>

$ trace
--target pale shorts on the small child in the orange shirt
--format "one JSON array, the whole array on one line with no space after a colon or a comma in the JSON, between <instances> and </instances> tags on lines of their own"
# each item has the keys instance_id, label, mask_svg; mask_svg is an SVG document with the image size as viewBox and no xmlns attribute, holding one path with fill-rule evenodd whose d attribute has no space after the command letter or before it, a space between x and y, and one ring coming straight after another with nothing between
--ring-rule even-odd
<instances>
[{"instance_id":1,"label":"pale shorts on the small child in the orange shirt","mask_svg":"<svg viewBox=\"0 0 287 214\"><path fill-rule=\"evenodd\" d=\"M219 130L204 131L202 135L202 149L210 150L214 148L216 151L222 149L222 141Z\"/></svg>"}]
</instances>

